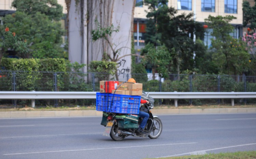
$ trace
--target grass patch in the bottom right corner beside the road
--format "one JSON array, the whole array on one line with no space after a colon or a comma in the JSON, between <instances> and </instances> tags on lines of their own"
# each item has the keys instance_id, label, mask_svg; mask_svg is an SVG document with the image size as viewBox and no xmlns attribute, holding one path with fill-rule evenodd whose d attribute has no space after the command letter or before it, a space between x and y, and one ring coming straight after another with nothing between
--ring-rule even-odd
<instances>
[{"instance_id":1,"label":"grass patch in the bottom right corner beside the road","mask_svg":"<svg viewBox=\"0 0 256 159\"><path fill-rule=\"evenodd\" d=\"M256 151L191 155L181 157L164 157L161 159L256 159Z\"/></svg>"}]
</instances>

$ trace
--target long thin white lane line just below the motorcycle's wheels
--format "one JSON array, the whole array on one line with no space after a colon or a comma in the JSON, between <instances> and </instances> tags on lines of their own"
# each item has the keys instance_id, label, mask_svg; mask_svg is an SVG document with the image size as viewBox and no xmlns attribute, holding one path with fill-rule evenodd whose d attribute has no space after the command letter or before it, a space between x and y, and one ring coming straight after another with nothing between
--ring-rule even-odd
<instances>
[{"instance_id":1,"label":"long thin white lane line just below the motorcycle's wheels","mask_svg":"<svg viewBox=\"0 0 256 159\"><path fill-rule=\"evenodd\" d=\"M100 150L100 149L119 149L119 148L134 148L134 147L149 147L149 146L166 146L166 145L182 145L182 144L196 144L196 143L197 143L197 142L161 144L161 145L108 147L108 148L89 148L89 149L73 149L73 150L61 150L61 151L43 151L43 152L16 153L16 154L3 154L3 155L23 155L23 154L39 154L39 153L55 153L55 152L71 152L71 151L88 151L88 150Z\"/></svg>"}]
</instances>

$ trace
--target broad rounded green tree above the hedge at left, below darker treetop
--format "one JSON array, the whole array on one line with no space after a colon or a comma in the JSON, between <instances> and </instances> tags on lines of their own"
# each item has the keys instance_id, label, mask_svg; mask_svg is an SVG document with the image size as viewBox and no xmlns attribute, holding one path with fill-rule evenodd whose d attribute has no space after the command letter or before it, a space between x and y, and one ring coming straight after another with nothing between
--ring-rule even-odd
<instances>
[{"instance_id":1,"label":"broad rounded green tree above the hedge at left, below darker treetop","mask_svg":"<svg viewBox=\"0 0 256 159\"><path fill-rule=\"evenodd\" d=\"M63 49L60 48L63 31L60 23L48 19L45 14L39 12L33 16L16 12L7 15L3 21L5 27L11 28L22 41L28 43L29 53L19 55L20 57L63 57Z\"/></svg>"}]
</instances>

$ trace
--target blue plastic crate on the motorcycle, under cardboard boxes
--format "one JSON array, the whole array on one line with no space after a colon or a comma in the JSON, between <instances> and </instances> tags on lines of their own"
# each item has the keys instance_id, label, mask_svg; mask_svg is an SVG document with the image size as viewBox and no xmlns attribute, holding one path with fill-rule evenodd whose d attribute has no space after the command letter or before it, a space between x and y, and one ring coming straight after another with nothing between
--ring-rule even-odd
<instances>
[{"instance_id":1,"label":"blue plastic crate on the motorcycle, under cardboard boxes","mask_svg":"<svg viewBox=\"0 0 256 159\"><path fill-rule=\"evenodd\" d=\"M96 110L139 114L141 96L111 93L96 93Z\"/></svg>"}]
</instances>

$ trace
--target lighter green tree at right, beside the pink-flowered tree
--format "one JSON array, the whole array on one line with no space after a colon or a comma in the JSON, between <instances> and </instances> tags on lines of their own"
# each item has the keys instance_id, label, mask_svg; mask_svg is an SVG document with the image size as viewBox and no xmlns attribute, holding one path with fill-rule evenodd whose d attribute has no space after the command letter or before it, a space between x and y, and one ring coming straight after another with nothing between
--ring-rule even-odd
<instances>
[{"instance_id":1,"label":"lighter green tree at right, beside the pink-flowered tree","mask_svg":"<svg viewBox=\"0 0 256 159\"><path fill-rule=\"evenodd\" d=\"M234 16L216 16L209 15L205 22L215 39L212 39L213 60L218 66L220 73L241 74L248 69L248 60L250 55L245 50L244 42L234 39L229 35L233 31L230 21L236 19Z\"/></svg>"}]
</instances>

